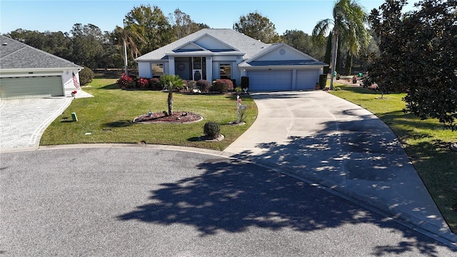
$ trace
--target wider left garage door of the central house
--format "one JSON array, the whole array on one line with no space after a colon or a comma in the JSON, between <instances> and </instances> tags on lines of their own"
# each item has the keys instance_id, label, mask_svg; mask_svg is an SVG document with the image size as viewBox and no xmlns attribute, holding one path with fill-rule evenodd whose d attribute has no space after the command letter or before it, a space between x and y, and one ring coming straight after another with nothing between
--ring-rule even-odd
<instances>
[{"instance_id":1,"label":"wider left garage door of the central house","mask_svg":"<svg viewBox=\"0 0 457 257\"><path fill-rule=\"evenodd\" d=\"M248 71L248 77L251 91L292 89L291 70Z\"/></svg>"}]
</instances>

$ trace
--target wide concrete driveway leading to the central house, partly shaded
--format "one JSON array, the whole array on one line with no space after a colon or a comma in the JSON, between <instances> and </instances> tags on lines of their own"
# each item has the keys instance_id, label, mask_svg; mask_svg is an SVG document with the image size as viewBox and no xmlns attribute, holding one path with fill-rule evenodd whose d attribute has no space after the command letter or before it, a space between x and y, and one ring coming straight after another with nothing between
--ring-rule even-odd
<instances>
[{"instance_id":1,"label":"wide concrete driveway leading to the central house, partly shaded","mask_svg":"<svg viewBox=\"0 0 457 257\"><path fill-rule=\"evenodd\" d=\"M251 96L258 117L226 155L280 168L457 242L395 134L369 111L324 91Z\"/></svg>"}]
</instances>

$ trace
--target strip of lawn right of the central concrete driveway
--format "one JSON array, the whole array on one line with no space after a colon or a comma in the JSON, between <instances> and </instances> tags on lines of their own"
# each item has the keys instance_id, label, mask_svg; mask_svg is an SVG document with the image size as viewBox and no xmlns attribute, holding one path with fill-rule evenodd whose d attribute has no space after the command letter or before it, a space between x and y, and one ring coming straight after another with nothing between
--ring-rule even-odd
<instances>
[{"instance_id":1,"label":"strip of lawn right of the central concrete driveway","mask_svg":"<svg viewBox=\"0 0 457 257\"><path fill-rule=\"evenodd\" d=\"M382 119L396 136L411 158L436 205L454 233L457 233L457 152L451 143L457 141L457 131L443 129L436 119L421 121L411 114L404 114L405 94L381 94L368 89L336 85L340 90L331 94L362 106Z\"/></svg>"}]
</instances>

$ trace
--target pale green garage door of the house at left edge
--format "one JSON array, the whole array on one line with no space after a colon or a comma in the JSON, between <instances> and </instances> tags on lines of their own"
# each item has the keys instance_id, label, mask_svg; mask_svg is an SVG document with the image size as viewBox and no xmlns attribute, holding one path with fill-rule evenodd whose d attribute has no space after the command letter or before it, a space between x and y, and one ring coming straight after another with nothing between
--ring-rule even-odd
<instances>
[{"instance_id":1,"label":"pale green garage door of the house at left edge","mask_svg":"<svg viewBox=\"0 0 457 257\"><path fill-rule=\"evenodd\" d=\"M1 99L64 96L61 76L0 78Z\"/></svg>"}]
</instances>

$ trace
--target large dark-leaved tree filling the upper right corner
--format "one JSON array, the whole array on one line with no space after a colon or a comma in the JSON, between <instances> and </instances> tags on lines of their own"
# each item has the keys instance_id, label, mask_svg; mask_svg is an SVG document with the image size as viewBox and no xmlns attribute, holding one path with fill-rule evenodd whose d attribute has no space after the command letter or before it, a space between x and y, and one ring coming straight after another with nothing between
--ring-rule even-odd
<instances>
[{"instance_id":1,"label":"large dark-leaved tree filling the upper right corner","mask_svg":"<svg viewBox=\"0 0 457 257\"><path fill-rule=\"evenodd\" d=\"M386 0L371 12L380 56L369 69L383 91L407 91L406 111L456 129L457 0L423 0L402 14L406 0Z\"/></svg>"}]
</instances>

